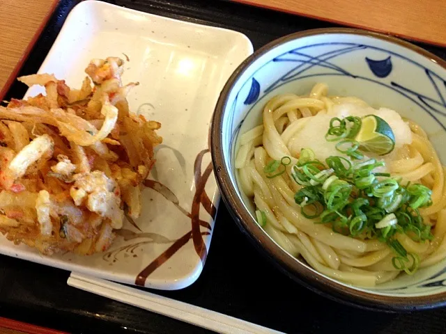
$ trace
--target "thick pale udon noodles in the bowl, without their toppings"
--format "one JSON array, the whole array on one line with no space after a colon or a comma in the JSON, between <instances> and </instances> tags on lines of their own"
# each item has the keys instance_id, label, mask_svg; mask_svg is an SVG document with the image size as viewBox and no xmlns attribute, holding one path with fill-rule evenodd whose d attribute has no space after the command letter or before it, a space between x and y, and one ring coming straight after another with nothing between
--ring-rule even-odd
<instances>
[{"instance_id":1,"label":"thick pale udon noodles in the bowl, without their toppings","mask_svg":"<svg viewBox=\"0 0 446 334\"><path fill-rule=\"evenodd\" d=\"M277 95L263 109L263 125L240 136L235 165L241 189L253 198L256 209L266 214L264 230L294 257L302 255L316 271L359 286L374 286L393 280L400 271L392 265L393 251L378 240L362 240L333 232L327 225L300 214L294 194L300 185L291 178L291 166L300 152L293 152L293 134L316 113L327 113L334 104L367 104L356 97L328 97L328 86L316 84L308 96ZM446 257L445 167L426 133L407 120L413 142L404 145L390 161L392 175L432 189L433 205L420 209L424 223L432 225L431 241L415 242L406 234L397 239L410 253L420 256L420 267L429 267ZM286 173L267 178L263 168L270 159L291 157Z\"/></svg>"}]
</instances>

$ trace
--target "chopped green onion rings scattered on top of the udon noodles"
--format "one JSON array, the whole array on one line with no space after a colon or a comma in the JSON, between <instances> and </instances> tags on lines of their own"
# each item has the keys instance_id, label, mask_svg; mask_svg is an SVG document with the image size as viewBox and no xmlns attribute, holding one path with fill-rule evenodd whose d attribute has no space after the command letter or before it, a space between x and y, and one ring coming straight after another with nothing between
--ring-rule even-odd
<instances>
[{"instance_id":1,"label":"chopped green onion rings scattered on top of the udon noodles","mask_svg":"<svg viewBox=\"0 0 446 334\"><path fill-rule=\"evenodd\" d=\"M354 120L334 118L327 136L337 137L336 148L340 152L362 159L357 152L358 143L348 137L355 124ZM282 158L280 164L286 169L291 158ZM276 163L277 168L281 168L280 164ZM423 222L418 211L431 204L431 189L421 184L403 185L401 177L375 172L380 166L385 166L385 162L368 159L352 164L337 156L328 157L323 164L315 159L312 150L302 149L298 163L291 166L291 177L302 186L294 200L300 205L302 216L318 217L314 223L330 223L335 232L346 236L389 244L397 254L392 264L413 273L420 267L419 257L408 255L394 236L406 234L414 241L433 238L431 227Z\"/></svg>"}]
</instances>

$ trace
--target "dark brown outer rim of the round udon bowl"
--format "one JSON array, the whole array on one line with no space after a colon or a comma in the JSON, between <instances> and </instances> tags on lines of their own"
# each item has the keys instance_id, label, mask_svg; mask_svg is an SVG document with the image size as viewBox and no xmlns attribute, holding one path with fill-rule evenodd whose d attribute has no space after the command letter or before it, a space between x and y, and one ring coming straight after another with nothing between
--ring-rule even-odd
<instances>
[{"instance_id":1,"label":"dark brown outer rim of the round udon bowl","mask_svg":"<svg viewBox=\"0 0 446 334\"><path fill-rule=\"evenodd\" d=\"M277 38L264 45L263 47L254 51L254 53L247 57L236 70L231 74L231 77L226 81L224 88L217 100L215 111L210 124L210 151L212 154L213 168L217 184L222 192L222 199L229 208L229 212L238 224L240 230L254 242L254 246L258 248L264 255L272 260L279 269L282 269L289 277L298 283L305 285L309 289L314 290L318 294L347 303L348 305L359 306L360 308L367 308L372 310L385 311L410 311L410 310L424 310L429 308L438 308L446 305L446 292L427 296L385 296L381 294L374 294L373 292L364 292L351 287L346 287L336 280L325 278L316 270L316 275L312 269L305 267L300 260L291 257L285 250L275 244L266 232L264 232L259 225L254 221L252 216L247 212L243 202L238 198L235 189L231 184L229 173L224 164L223 148L222 148L222 118L223 111L226 109L226 104L229 99L229 93L233 85L245 73L247 67L254 63L258 58L266 54L271 49L283 45L291 40L298 38L305 38L312 35L323 34L352 34L384 40L395 45L399 45L417 52L424 56L427 61L436 63L446 70L446 61L442 58L432 54L421 47L413 45L410 42L401 40L399 38L385 35L383 33L376 33L373 31L365 31L362 29L353 28L323 28L323 29L309 29L306 31L299 31L285 35L282 38Z\"/></svg>"}]
</instances>

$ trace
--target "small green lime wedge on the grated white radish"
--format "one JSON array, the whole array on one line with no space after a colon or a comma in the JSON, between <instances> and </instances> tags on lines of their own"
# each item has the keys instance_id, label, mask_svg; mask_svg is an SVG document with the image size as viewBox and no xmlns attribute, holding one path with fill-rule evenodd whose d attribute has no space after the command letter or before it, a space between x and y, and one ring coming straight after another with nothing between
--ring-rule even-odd
<instances>
[{"instance_id":1,"label":"small green lime wedge on the grated white radish","mask_svg":"<svg viewBox=\"0 0 446 334\"><path fill-rule=\"evenodd\" d=\"M367 115L362 118L360 131L355 141L360 144L360 150L385 155L394 149L395 136L392 128L383 118Z\"/></svg>"}]
</instances>

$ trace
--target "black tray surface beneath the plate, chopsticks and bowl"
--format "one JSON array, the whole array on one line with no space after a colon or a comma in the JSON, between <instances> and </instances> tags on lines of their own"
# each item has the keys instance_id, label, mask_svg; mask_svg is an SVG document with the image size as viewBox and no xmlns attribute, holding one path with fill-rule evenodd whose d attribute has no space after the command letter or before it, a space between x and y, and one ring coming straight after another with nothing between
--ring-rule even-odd
<instances>
[{"instance_id":1,"label":"black tray surface beneath the plate, chopsticks and bowl","mask_svg":"<svg viewBox=\"0 0 446 334\"><path fill-rule=\"evenodd\" d=\"M24 63L31 74L45 58L77 0L61 0ZM250 8L222 0L114 0L155 15L245 33L258 49L279 36L333 26L326 22ZM442 58L446 50L421 45ZM7 98L25 88L13 84ZM231 247L228 248L228 240ZM70 333L208 333L180 321L68 287L67 271L0 256L0 317ZM444 333L446 309L411 314L359 310L318 296L266 261L238 230L223 203L203 273L194 285L157 294L239 317L286 333Z\"/></svg>"}]
</instances>

